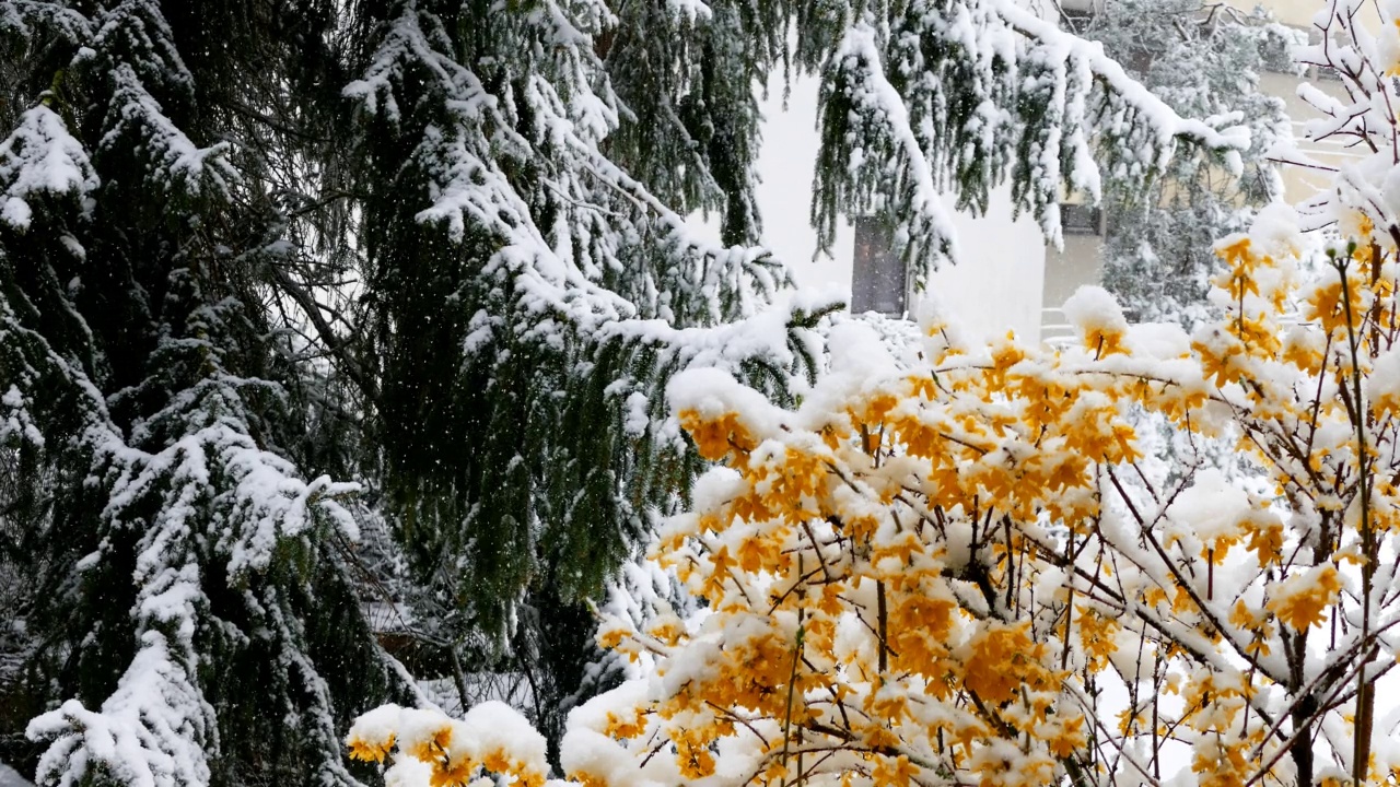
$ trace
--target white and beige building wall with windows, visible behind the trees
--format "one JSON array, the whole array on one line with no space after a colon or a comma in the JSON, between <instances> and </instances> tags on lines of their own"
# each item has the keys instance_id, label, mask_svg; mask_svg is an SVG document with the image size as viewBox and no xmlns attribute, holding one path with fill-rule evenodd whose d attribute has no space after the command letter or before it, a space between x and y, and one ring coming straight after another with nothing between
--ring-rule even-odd
<instances>
[{"instance_id":1,"label":"white and beige building wall with windows, visible behind the trees","mask_svg":"<svg viewBox=\"0 0 1400 787\"><path fill-rule=\"evenodd\" d=\"M1086 21L1105 0L1026 0L1047 18L1061 11L1074 21ZM1229 0L1240 10L1253 0ZM1282 24L1312 28L1317 0L1263 0ZM1379 15L1375 20L1379 24ZM1316 113L1298 98L1301 78L1295 74L1261 74L1261 88L1282 98L1296 130ZM1340 83L1319 81L1323 90L1340 91ZM809 224L812 167L819 139L816 133L816 81L797 78L785 91L783 74L774 74L763 102L764 140L759 157L762 183L759 207L764 235L774 253L788 260L799 284L848 288L855 311L914 316L931 297L973 336L1004 335L1008 329L1029 342L1068 335L1060 307L1084 284L1102 280L1102 245L1106 217L1095 206L1068 199L1061 206L1063 248L1047 246L1036 221L1012 217L1009 195L994 193L984 216L955 214L960 263L942 266L930 276L927 293L916 293L913 276L889 253L878 227L861 221L837 228L829 253L818 253ZM1301 137L1301 133L1295 133ZM1322 160L1351 155L1340 146L1303 147ZM1284 171L1285 197L1298 200L1310 193L1313 181L1303 171ZM953 200L945 199L952 210ZM700 220L696 220L700 223Z\"/></svg>"}]
</instances>

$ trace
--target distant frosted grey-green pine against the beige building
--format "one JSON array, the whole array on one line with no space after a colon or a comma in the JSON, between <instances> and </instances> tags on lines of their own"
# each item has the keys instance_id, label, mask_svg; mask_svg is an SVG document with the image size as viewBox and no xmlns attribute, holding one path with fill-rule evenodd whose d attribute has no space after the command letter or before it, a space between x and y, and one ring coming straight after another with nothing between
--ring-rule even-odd
<instances>
[{"instance_id":1,"label":"distant frosted grey-green pine against the beige building","mask_svg":"<svg viewBox=\"0 0 1400 787\"><path fill-rule=\"evenodd\" d=\"M1105 195L1105 286L1137 319L1190 328L1208 312L1215 239L1247 228L1254 209L1282 193L1266 155L1291 133L1288 116L1259 80L1292 71L1289 52L1306 36L1263 11L1201 0L1106 0L1075 29L1182 115L1231 118L1252 132L1235 169L1177 157L1145 192Z\"/></svg>"}]
</instances>

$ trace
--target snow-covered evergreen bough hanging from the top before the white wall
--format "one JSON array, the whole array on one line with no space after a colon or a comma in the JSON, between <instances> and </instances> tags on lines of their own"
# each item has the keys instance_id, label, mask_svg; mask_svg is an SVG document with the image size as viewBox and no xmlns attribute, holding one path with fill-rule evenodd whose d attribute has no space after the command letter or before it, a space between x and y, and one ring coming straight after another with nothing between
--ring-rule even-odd
<instances>
[{"instance_id":1,"label":"snow-covered evergreen bough hanging from the top before the white wall","mask_svg":"<svg viewBox=\"0 0 1400 787\"><path fill-rule=\"evenodd\" d=\"M1060 238L1060 195L1099 199L1165 172L1180 139L1233 158L1243 127L1183 122L1103 50L1015 0L799 3L797 60L822 74L812 218L823 248L843 213L882 217L917 265L956 259L938 192L1016 210ZM1219 157L1208 157L1219 158Z\"/></svg>"}]
</instances>

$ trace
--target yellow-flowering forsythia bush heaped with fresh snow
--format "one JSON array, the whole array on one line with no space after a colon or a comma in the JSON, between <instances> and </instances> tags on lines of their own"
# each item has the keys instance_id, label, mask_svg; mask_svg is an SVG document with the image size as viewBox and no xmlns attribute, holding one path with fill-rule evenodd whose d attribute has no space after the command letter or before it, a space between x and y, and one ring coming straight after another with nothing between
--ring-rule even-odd
<instances>
[{"instance_id":1,"label":"yellow-flowering forsythia bush heaped with fresh snow","mask_svg":"<svg viewBox=\"0 0 1400 787\"><path fill-rule=\"evenodd\" d=\"M678 378L672 408L718 466L654 557L704 613L603 626L638 678L574 711L567 776L1393 779L1373 686L1400 622L1396 251L1357 214L1305 284L1292 220L1270 209L1219 244L1225 315L1193 337L1081 290L1081 342L1054 351L974 351L935 319L909 370L839 330L795 412L722 372ZM1142 412L1236 434L1273 494L1204 466L1156 472ZM396 751L391 781L539 784L538 741L472 738L498 727L381 709L350 746Z\"/></svg>"}]
</instances>

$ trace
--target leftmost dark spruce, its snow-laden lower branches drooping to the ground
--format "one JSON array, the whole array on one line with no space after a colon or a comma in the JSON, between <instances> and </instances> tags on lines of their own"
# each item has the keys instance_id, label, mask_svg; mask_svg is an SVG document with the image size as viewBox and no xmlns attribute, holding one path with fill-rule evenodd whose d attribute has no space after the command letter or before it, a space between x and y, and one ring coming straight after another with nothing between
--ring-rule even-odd
<instances>
[{"instance_id":1,"label":"leftmost dark spruce, its snow-laden lower branches drooping to the ground","mask_svg":"<svg viewBox=\"0 0 1400 787\"><path fill-rule=\"evenodd\" d=\"M0 6L0 560L28 583L0 704L39 746L7 713L0 756L45 784L350 784L344 720L412 693L335 556L354 485L293 461L316 408L267 284L265 150L314 127L265 112L333 4L168 6Z\"/></svg>"}]
</instances>

